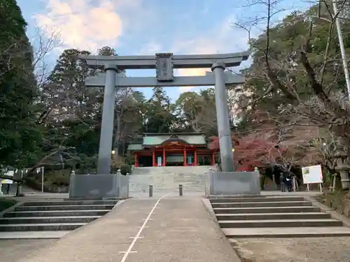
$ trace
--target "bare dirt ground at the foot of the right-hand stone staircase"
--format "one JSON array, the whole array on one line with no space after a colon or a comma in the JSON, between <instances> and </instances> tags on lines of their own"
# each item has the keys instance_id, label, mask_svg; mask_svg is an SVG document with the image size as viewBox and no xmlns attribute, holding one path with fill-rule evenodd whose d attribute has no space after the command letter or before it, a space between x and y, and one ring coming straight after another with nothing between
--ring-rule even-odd
<instances>
[{"instance_id":1,"label":"bare dirt ground at the foot of the right-hand stone staircase","mask_svg":"<svg viewBox=\"0 0 350 262\"><path fill-rule=\"evenodd\" d=\"M350 238L249 238L233 246L243 262L350 261Z\"/></svg>"}]
</instances>

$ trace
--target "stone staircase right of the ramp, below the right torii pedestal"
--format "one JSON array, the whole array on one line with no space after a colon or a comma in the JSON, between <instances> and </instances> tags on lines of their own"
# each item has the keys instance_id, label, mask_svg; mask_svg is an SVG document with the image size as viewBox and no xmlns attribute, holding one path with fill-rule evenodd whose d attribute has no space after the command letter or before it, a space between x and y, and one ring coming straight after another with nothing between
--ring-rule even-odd
<instances>
[{"instance_id":1,"label":"stone staircase right of the ramp, below the right torii pedestal","mask_svg":"<svg viewBox=\"0 0 350 262\"><path fill-rule=\"evenodd\" d=\"M209 197L226 237L302 238L349 236L350 228L302 196Z\"/></svg>"}]
</instances>

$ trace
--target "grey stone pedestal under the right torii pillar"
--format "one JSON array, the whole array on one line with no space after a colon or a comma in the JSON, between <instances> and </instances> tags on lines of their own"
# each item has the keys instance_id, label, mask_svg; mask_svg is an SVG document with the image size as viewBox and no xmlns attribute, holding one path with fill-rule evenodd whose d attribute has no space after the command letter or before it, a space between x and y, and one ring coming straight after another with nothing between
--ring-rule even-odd
<instances>
[{"instance_id":1,"label":"grey stone pedestal under the right torii pillar","mask_svg":"<svg viewBox=\"0 0 350 262\"><path fill-rule=\"evenodd\" d=\"M209 194L215 195L260 195L260 174L253 172L209 173Z\"/></svg>"}]
</instances>

